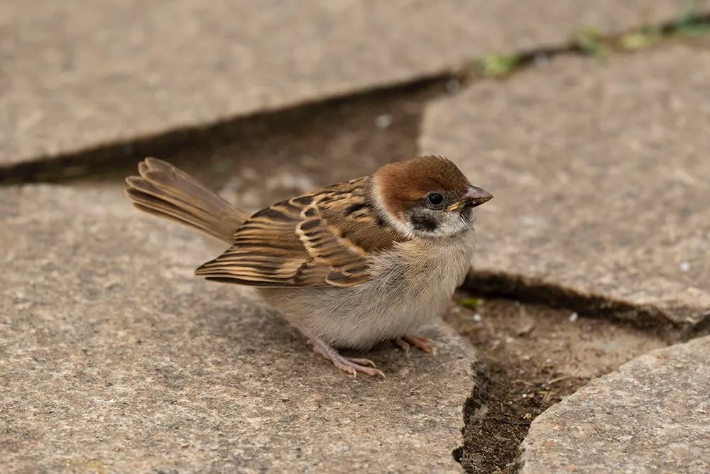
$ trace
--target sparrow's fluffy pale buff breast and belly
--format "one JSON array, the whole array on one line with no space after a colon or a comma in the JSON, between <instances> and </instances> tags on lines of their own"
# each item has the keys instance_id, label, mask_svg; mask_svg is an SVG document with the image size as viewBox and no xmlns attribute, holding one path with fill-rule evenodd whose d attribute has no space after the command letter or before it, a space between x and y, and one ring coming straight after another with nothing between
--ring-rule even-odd
<instances>
[{"instance_id":1,"label":"sparrow's fluffy pale buff breast and belly","mask_svg":"<svg viewBox=\"0 0 710 474\"><path fill-rule=\"evenodd\" d=\"M456 243L415 250L403 246L380 255L371 265L371 279L356 287L260 292L306 336L337 347L368 348L410 334L441 314L471 260L469 241Z\"/></svg>"}]
</instances>

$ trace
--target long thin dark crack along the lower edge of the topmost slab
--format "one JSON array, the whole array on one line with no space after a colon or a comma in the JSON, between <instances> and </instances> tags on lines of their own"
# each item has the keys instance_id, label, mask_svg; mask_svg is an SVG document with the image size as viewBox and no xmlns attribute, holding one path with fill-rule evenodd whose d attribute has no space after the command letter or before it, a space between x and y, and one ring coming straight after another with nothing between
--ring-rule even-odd
<instances>
[{"instance_id":1,"label":"long thin dark crack along the lower edge of the topmost slab","mask_svg":"<svg viewBox=\"0 0 710 474\"><path fill-rule=\"evenodd\" d=\"M710 28L710 13L697 15L687 13L683 20L684 27L706 27ZM662 40L667 40L679 32L679 19L668 21L657 25L633 28L626 33L614 35L592 35L594 38L572 40L565 45L553 45L550 47L523 50L507 55L489 55L476 60L472 60L461 67L453 70L442 70L431 75L417 77L413 80L390 84L383 87L371 87L363 89L353 94L344 94L335 97L326 97L315 101L305 101L280 109L258 111L254 114L224 118L213 123L200 124L195 126L184 126L170 131L157 133L149 136L138 136L129 140L119 140L111 143L104 143L82 150L72 150L59 155L40 155L28 162L16 163L0 167L0 186L7 184L30 184L38 182L62 182L78 177L91 177L94 172L106 170L116 166L117 162L126 160L135 161L136 157L144 158L151 155L165 155L171 150L179 149L195 140L201 140L209 136L220 136L239 126L241 123L268 119L282 114L303 114L307 116L314 109L323 107L334 107L340 104L356 100L369 98L376 100L378 97L385 97L391 94L407 94L422 91L435 84L452 84L448 89L458 89L467 87L477 80L485 77L508 77L508 75L518 72L535 64L540 58L550 60L559 55L594 55L590 50L589 43L605 45L611 49L613 54L628 51L628 48L619 49L620 40L629 34L643 31L653 31L659 35L657 41L646 45L647 49ZM587 35L589 36L589 35ZM491 71L486 69L486 63L491 57L507 57L510 65L503 71Z\"/></svg>"}]
</instances>

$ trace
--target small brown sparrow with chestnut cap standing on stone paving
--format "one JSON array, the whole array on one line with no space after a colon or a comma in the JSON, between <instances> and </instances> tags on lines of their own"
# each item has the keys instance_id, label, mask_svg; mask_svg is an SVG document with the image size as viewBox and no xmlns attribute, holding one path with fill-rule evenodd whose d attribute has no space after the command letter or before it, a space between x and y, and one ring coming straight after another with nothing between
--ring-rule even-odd
<instances>
[{"instance_id":1,"label":"small brown sparrow with chestnut cap standing on stone paving","mask_svg":"<svg viewBox=\"0 0 710 474\"><path fill-rule=\"evenodd\" d=\"M126 178L134 206L229 245L197 275L256 287L316 353L352 375L382 377L371 360L339 348L393 340L432 351L415 331L463 282L474 249L471 209L493 197L440 156L393 162L255 214L168 162L146 158L138 174Z\"/></svg>"}]
</instances>

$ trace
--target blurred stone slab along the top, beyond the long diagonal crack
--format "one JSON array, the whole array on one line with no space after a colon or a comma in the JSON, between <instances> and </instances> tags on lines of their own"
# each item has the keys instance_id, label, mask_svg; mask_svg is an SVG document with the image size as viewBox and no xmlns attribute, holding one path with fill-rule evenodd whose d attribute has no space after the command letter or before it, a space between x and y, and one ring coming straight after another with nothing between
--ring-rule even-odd
<instances>
[{"instance_id":1,"label":"blurred stone slab along the top, beyond the long diagonal crack","mask_svg":"<svg viewBox=\"0 0 710 474\"><path fill-rule=\"evenodd\" d=\"M684 9L686 0L4 2L0 162L395 84Z\"/></svg>"}]
</instances>

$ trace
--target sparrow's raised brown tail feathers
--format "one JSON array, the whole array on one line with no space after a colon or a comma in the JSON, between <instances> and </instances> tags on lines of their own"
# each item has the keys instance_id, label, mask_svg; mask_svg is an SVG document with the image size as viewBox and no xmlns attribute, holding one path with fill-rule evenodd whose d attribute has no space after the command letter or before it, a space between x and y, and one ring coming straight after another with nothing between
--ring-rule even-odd
<instances>
[{"instance_id":1,"label":"sparrow's raised brown tail feathers","mask_svg":"<svg viewBox=\"0 0 710 474\"><path fill-rule=\"evenodd\" d=\"M199 181L170 163L146 158L138 163L141 176L126 178L126 196L133 206L233 243L232 236L249 213L237 209Z\"/></svg>"}]
</instances>

